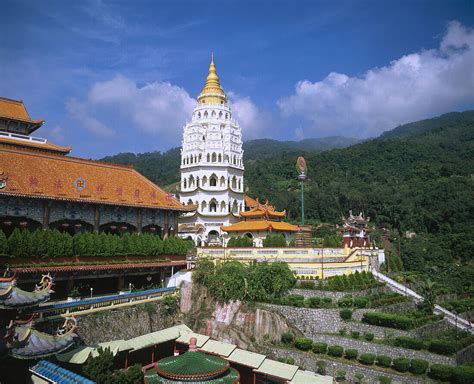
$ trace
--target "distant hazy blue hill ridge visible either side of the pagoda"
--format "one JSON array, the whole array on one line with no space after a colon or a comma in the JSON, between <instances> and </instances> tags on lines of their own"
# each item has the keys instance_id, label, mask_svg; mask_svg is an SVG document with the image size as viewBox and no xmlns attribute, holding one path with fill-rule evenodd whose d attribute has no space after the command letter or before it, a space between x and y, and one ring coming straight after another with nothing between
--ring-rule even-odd
<instances>
[{"instance_id":1,"label":"distant hazy blue hill ridge visible either side of the pagoda","mask_svg":"<svg viewBox=\"0 0 474 384\"><path fill-rule=\"evenodd\" d=\"M332 136L301 141L278 141L271 139L250 140L244 142L244 161L273 156L276 153L293 151L324 151L333 148L345 148L360 140ZM101 159L116 164L133 165L140 173L158 185L167 186L179 181L180 151L173 148L166 152L119 153Z\"/></svg>"}]
</instances>

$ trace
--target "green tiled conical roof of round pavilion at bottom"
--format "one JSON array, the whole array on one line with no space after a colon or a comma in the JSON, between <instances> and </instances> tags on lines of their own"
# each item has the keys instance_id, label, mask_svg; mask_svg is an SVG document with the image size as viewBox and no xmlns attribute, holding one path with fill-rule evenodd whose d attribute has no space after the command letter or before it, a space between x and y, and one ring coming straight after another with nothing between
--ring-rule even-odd
<instances>
[{"instance_id":1,"label":"green tiled conical roof of round pavilion at bottom","mask_svg":"<svg viewBox=\"0 0 474 384\"><path fill-rule=\"evenodd\" d=\"M171 379L211 379L228 369L228 361L197 351L166 357L156 364L158 374Z\"/></svg>"}]
</instances>

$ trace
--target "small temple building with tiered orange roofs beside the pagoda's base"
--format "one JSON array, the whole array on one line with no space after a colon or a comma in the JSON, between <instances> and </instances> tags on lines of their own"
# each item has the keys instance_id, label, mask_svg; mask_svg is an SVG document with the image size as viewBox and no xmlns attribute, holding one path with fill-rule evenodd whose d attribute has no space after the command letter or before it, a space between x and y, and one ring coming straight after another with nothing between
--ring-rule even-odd
<instances>
[{"instance_id":1,"label":"small temple building with tiered orange roofs beside the pagoda's base","mask_svg":"<svg viewBox=\"0 0 474 384\"><path fill-rule=\"evenodd\" d=\"M280 233L285 236L287 242L294 239L298 232L298 226L283 221L286 217L286 211L276 211L268 201L260 204L258 200L247 199L253 208L240 212L243 221L238 223L221 226L221 230L228 235L225 236L225 243L232 236L248 236L253 239L254 246L261 247L263 240L269 233ZM256 204L252 204L253 200Z\"/></svg>"}]
</instances>

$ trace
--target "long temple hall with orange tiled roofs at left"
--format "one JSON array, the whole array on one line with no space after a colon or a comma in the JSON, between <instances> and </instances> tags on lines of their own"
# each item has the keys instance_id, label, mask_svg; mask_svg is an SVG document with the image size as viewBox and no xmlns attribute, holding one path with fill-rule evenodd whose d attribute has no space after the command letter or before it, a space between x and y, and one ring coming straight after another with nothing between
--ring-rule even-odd
<instances>
[{"instance_id":1,"label":"long temple hall with orange tiled roofs at left","mask_svg":"<svg viewBox=\"0 0 474 384\"><path fill-rule=\"evenodd\" d=\"M43 124L22 101L0 98L0 230L57 228L71 234L177 232L189 212L133 168L66 156L71 147L31 136Z\"/></svg>"}]
</instances>

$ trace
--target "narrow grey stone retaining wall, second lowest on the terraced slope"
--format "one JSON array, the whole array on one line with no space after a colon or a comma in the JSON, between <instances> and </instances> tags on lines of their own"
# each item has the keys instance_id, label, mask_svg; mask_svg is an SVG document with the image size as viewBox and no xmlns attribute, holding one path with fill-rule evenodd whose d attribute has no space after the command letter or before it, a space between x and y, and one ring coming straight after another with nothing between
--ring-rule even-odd
<instances>
[{"instance_id":1,"label":"narrow grey stone retaining wall, second lowest on the terraced slope","mask_svg":"<svg viewBox=\"0 0 474 384\"><path fill-rule=\"evenodd\" d=\"M430 364L456 364L456 360L454 357L441 356L426 351L415 351L412 349L370 343L358 339L348 339L342 336L316 335L313 337L313 340L322 341L324 343L327 343L328 345L340 345L341 347L344 347L344 349L354 348L359 351L359 355L361 353L373 353L375 355L387 355L390 356L392 359L397 357L408 357L409 359L423 359L428 361Z\"/></svg>"}]
</instances>

